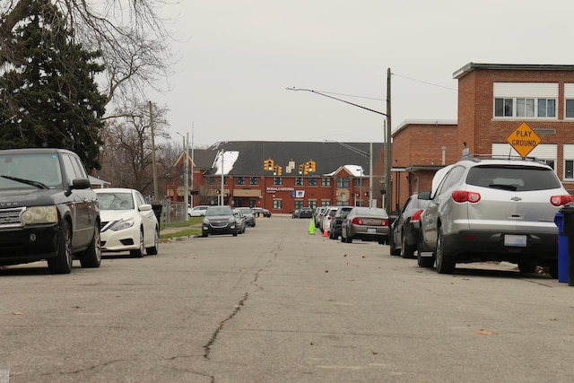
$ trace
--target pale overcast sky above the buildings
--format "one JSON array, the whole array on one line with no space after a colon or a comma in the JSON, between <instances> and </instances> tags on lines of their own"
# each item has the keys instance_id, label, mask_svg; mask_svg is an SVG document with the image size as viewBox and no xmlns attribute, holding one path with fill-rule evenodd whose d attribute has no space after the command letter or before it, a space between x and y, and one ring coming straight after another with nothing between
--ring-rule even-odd
<instances>
[{"instance_id":1,"label":"pale overcast sky above the buildings","mask_svg":"<svg viewBox=\"0 0 574 383\"><path fill-rule=\"evenodd\" d=\"M183 0L167 11L178 39L170 109L178 143L382 142L383 116L456 120L469 62L574 64L571 0Z\"/></svg>"}]
</instances>

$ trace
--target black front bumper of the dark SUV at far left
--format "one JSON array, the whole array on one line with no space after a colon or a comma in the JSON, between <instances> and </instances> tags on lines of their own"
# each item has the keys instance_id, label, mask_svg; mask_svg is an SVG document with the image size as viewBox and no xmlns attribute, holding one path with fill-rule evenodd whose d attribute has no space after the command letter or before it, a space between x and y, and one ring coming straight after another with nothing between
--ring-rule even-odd
<instances>
[{"instance_id":1,"label":"black front bumper of the dark SUV at far left","mask_svg":"<svg viewBox=\"0 0 574 383\"><path fill-rule=\"evenodd\" d=\"M0 230L0 265L17 265L57 256L59 225Z\"/></svg>"}]
</instances>

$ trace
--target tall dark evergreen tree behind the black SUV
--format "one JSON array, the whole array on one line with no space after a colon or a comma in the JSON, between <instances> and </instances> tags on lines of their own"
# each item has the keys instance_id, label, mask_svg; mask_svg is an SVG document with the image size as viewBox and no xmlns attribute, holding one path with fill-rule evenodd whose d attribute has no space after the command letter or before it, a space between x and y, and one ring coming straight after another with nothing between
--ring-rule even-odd
<instances>
[{"instance_id":1,"label":"tall dark evergreen tree behind the black SUV","mask_svg":"<svg viewBox=\"0 0 574 383\"><path fill-rule=\"evenodd\" d=\"M11 58L0 68L0 148L65 148L100 169L107 102L94 80L103 70L100 54L74 44L49 0L32 0L27 12L0 48Z\"/></svg>"}]
</instances>

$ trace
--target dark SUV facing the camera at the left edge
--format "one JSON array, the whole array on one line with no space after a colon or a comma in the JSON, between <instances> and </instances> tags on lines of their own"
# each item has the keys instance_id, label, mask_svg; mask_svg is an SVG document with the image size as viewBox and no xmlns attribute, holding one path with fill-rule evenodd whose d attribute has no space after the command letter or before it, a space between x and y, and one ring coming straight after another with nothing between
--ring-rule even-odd
<instances>
[{"instance_id":1,"label":"dark SUV facing the camera at the left edge","mask_svg":"<svg viewBox=\"0 0 574 383\"><path fill-rule=\"evenodd\" d=\"M0 217L0 265L46 259L51 274L68 274L76 257L100 266L98 196L74 152L0 151Z\"/></svg>"}]
</instances>

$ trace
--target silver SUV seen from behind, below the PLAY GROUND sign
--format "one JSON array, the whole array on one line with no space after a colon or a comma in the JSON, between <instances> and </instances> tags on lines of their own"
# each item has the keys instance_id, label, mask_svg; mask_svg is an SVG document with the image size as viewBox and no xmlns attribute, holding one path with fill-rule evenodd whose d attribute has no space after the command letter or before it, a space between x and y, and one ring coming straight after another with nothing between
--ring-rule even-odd
<instances>
[{"instance_id":1,"label":"silver SUV seen from behind, below the PLAY GROUND sign","mask_svg":"<svg viewBox=\"0 0 574 383\"><path fill-rule=\"evenodd\" d=\"M554 216L572 197L554 170L523 158L468 157L449 167L421 215L418 263L452 274L457 263L507 261L558 274Z\"/></svg>"}]
</instances>

